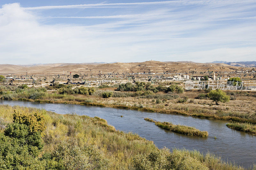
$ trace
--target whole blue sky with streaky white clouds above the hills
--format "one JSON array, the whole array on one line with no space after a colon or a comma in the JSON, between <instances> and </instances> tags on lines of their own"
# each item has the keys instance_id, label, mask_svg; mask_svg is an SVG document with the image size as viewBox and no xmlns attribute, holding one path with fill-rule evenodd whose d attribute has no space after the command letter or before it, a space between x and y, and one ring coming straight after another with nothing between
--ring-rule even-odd
<instances>
[{"instance_id":1,"label":"whole blue sky with streaky white clouds above the hills","mask_svg":"<svg viewBox=\"0 0 256 170\"><path fill-rule=\"evenodd\" d=\"M256 1L0 1L0 64L148 60L256 60Z\"/></svg>"}]
</instances>

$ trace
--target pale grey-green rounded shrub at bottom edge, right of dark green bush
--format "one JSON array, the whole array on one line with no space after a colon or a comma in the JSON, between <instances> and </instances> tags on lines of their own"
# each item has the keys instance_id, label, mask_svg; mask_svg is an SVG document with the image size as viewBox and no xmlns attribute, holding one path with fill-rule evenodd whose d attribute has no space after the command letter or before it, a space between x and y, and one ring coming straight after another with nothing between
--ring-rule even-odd
<instances>
[{"instance_id":1,"label":"pale grey-green rounded shrub at bottom edge, right of dark green bush","mask_svg":"<svg viewBox=\"0 0 256 170\"><path fill-rule=\"evenodd\" d=\"M99 149L92 145L79 147L76 140L69 140L58 145L57 149L44 154L47 160L46 169L108 169L109 161Z\"/></svg>"}]
</instances>

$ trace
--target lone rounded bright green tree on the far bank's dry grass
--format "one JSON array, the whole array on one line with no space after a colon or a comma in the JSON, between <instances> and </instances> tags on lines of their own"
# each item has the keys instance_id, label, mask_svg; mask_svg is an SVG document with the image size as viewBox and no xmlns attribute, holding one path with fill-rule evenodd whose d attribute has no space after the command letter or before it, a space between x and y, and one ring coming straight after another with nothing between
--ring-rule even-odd
<instances>
[{"instance_id":1,"label":"lone rounded bright green tree on the far bank's dry grass","mask_svg":"<svg viewBox=\"0 0 256 170\"><path fill-rule=\"evenodd\" d=\"M208 93L208 97L213 100L216 105L219 105L218 102L226 103L230 100L230 97L226 95L226 93L220 89L211 90Z\"/></svg>"}]
</instances>

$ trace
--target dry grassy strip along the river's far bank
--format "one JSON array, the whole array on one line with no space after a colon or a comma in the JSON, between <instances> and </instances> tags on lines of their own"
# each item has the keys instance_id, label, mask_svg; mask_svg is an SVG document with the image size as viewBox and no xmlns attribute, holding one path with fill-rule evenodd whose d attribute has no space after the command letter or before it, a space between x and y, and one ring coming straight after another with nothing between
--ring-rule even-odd
<instances>
[{"instance_id":1,"label":"dry grassy strip along the river's far bank","mask_svg":"<svg viewBox=\"0 0 256 170\"><path fill-rule=\"evenodd\" d=\"M120 100L120 98L118 98ZM74 97L71 95L63 96L63 98L52 98L52 99L27 99L27 98L14 98L13 100L21 100L21 101L29 101L29 102L39 102L39 103L61 103L61 104L81 104L81 105L91 105L91 106L100 106L100 107L113 107L119 109L131 109L131 110L141 110L147 112L159 112L159 113L167 113L167 114L181 114L186 116L195 116L199 118L206 119L218 119L218 120L228 120L228 121L237 121L242 123L253 123L256 124L256 120L253 117L250 118L250 115L245 115L239 112L228 112L222 110L216 110L216 112L212 112L212 110L207 109L188 109L185 108L180 109L171 109L170 107L160 107L153 108L147 107L147 105L134 103L133 105L121 102L108 102L108 100L103 100L107 102L103 102L102 100L95 100L95 98L91 97ZM100 102L97 102L100 101ZM169 106L169 105L168 105Z\"/></svg>"}]
</instances>

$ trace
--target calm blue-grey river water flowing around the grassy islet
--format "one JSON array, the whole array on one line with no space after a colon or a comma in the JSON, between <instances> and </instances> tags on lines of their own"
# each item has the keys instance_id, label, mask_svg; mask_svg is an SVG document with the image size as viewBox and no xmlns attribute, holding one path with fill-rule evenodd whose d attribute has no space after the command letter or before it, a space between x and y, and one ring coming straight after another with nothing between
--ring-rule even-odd
<instances>
[{"instance_id":1,"label":"calm blue-grey river water flowing around the grassy islet","mask_svg":"<svg viewBox=\"0 0 256 170\"><path fill-rule=\"evenodd\" d=\"M235 161L244 167L256 163L256 136L228 128L226 127L227 121L223 120L75 104L49 104L15 100L0 100L0 104L43 108L60 114L76 113L90 117L98 116L107 120L109 125L118 130L137 133L147 140L154 141L158 148L165 146L169 149L176 147L189 150L196 149L201 152L210 151L222 156L224 160ZM120 117L121 115L124 117ZM145 121L144 118L196 127L201 131L208 131L209 136L201 138L177 134L159 128L154 123ZM214 139L214 136L217 139Z\"/></svg>"}]
</instances>

